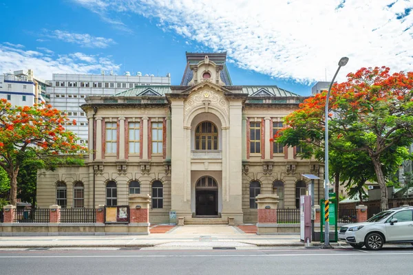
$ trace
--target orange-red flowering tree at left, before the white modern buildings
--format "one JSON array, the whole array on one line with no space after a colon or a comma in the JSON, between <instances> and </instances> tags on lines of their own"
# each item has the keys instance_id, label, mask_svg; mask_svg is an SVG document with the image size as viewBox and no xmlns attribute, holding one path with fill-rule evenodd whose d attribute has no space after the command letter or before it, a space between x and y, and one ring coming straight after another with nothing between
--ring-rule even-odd
<instances>
[{"instance_id":1,"label":"orange-red flowering tree at left, before the white modern buildings","mask_svg":"<svg viewBox=\"0 0 413 275\"><path fill-rule=\"evenodd\" d=\"M7 100L0 100L0 166L10 177L13 205L17 202L17 175L28 153L46 163L52 156L86 150L76 144L74 133L65 130L67 122L69 119L51 105L12 107Z\"/></svg>"}]
</instances>

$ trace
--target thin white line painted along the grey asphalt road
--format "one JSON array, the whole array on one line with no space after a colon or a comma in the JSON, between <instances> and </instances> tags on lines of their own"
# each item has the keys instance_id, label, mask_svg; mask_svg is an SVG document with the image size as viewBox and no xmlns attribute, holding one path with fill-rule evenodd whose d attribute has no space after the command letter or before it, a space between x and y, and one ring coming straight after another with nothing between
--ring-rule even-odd
<instances>
[{"instance_id":1,"label":"thin white line painted along the grey asphalt road","mask_svg":"<svg viewBox=\"0 0 413 275\"><path fill-rule=\"evenodd\" d=\"M372 255L413 255L413 252L403 252L403 253L377 253L369 254ZM265 255L78 255L78 256L0 256L2 258L213 258L213 257L296 257L296 256L359 256L367 255L364 253L343 253L343 254L265 254Z\"/></svg>"}]
</instances>

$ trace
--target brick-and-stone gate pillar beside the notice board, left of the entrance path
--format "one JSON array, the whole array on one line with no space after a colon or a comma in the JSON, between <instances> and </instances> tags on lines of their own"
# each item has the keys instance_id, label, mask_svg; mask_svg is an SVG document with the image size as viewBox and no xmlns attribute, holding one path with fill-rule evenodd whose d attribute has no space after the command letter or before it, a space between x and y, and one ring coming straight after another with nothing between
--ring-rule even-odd
<instances>
[{"instance_id":1,"label":"brick-and-stone gate pillar beside the notice board, left of the entrance path","mask_svg":"<svg viewBox=\"0 0 413 275\"><path fill-rule=\"evenodd\" d=\"M129 195L129 233L149 234L149 202L151 196Z\"/></svg>"}]
</instances>

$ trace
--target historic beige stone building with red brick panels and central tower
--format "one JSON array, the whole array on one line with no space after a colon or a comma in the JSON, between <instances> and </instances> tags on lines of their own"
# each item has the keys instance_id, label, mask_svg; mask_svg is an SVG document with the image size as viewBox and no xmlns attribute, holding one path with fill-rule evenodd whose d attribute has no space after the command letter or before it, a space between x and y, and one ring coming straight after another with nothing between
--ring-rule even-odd
<instances>
[{"instance_id":1,"label":"historic beige stone building with red brick panels and central tower","mask_svg":"<svg viewBox=\"0 0 413 275\"><path fill-rule=\"evenodd\" d=\"M169 211L255 222L260 193L297 208L308 184L301 175L322 178L323 167L270 139L304 97L233 85L225 62L226 53L187 53L181 85L86 98L86 165L39 173L38 205L126 205L129 194L149 194L152 223L169 222ZM315 201L323 194L316 181Z\"/></svg>"}]
</instances>

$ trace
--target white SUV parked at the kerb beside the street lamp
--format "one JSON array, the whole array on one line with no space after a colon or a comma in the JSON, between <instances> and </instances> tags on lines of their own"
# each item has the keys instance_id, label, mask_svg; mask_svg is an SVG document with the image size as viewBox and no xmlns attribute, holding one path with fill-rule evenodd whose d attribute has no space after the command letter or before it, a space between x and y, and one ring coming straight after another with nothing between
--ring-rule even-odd
<instances>
[{"instance_id":1,"label":"white SUV parked at the kerb beside the street lamp","mask_svg":"<svg viewBox=\"0 0 413 275\"><path fill-rule=\"evenodd\" d=\"M339 241L353 248L366 245L369 250L379 250L384 243L413 245L413 206L380 212L364 223L346 224L340 228Z\"/></svg>"}]
</instances>

